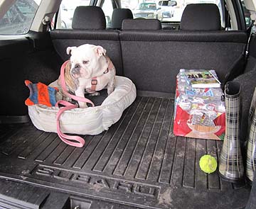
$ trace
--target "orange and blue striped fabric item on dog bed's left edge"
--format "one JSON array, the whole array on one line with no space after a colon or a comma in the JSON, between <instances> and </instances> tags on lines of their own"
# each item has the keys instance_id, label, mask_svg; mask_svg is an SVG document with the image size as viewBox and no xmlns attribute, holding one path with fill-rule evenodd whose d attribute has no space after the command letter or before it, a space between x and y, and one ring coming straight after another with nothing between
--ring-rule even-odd
<instances>
[{"instance_id":1,"label":"orange and blue striped fabric item on dog bed's left edge","mask_svg":"<svg viewBox=\"0 0 256 209\"><path fill-rule=\"evenodd\" d=\"M38 84L33 84L28 80L25 81L25 84L30 91L30 95L25 101L27 106L33 106L35 104L43 104L48 107L55 106L55 103L57 102L55 94L57 93L58 88L52 88L40 82Z\"/></svg>"}]
</instances>

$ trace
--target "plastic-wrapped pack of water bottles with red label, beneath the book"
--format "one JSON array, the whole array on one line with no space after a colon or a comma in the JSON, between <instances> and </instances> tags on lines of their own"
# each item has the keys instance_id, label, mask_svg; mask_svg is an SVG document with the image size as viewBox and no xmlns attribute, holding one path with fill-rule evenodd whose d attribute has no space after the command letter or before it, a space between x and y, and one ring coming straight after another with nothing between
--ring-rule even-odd
<instances>
[{"instance_id":1,"label":"plastic-wrapped pack of water bottles with red label, beneath the book","mask_svg":"<svg viewBox=\"0 0 256 209\"><path fill-rule=\"evenodd\" d=\"M225 103L220 88L193 89L181 69L177 75L174 135L223 140L225 135ZM213 70L211 73L217 78Z\"/></svg>"}]
</instances>

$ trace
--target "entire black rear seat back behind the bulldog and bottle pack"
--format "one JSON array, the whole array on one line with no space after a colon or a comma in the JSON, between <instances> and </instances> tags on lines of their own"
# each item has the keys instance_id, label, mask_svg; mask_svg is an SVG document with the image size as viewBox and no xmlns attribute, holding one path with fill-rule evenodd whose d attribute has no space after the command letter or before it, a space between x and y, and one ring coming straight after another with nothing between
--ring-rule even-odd
<instances>
[{"instance_id":1,"label":"entire black rear seat back behind the bulldog and bottle pack","mask_svg":"<svg viewBox=\"0 0 256 209\"><path fill-rule=\"evenodd\" d=\"M95 15L82 17L94 22L99 19ZM183 16L188 16L186 9ZM207 18L203 16L201 20ZM79 25L85 22L80 20L75 30L53 30L50 34L63 60L69 57L65 55L68 46L102 45L114 62L117 74L132 79L137 89L175 93L179 69L215 69L223 81L247 44L244 31L217 30L220 29L218 23L210 23L212 26L207 30L203 30L205 23L196 23L201 28L192 30L187 27L186 19L189 18L182 18L179 31L159 30L158 20L137 19L124 20L122 31L99 29L96 23L91 26L97 28L83 26L80 29ZM217 18L217 21L220 20Z\"/></svg>"}]
</instances>

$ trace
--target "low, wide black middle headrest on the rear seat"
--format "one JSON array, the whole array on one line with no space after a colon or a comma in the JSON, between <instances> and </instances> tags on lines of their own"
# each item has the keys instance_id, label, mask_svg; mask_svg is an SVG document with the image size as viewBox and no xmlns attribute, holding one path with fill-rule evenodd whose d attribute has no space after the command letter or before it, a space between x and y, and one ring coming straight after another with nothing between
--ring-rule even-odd
<instances>
[{"instance_id":1,"label":"low, wide black middle headrest on the rear seat","mask_svg":"<svg viewBox=\"0 0 256 209\"><path fill-rule=\"evenodd\" d=\"M161 30L161 22L157 19L126 19L122 22L122 30Z\"/></svg>"}]
</instances>

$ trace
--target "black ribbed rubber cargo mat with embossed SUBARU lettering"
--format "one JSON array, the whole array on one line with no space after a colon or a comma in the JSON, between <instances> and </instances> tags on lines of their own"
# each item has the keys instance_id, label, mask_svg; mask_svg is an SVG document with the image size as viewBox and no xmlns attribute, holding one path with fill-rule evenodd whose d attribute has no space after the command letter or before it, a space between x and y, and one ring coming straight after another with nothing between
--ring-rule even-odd
<instances>
[{"instance_id":1,"label":"black ribbed rubber cargo mat with embossed SUBARU lettering","mask_svg":"<svg viewBox=\"0 0 256 209\"><path fill-rule=\"evenodd\" d=\"M198 166L222 142L175 137L174 100L138 96L110 130L65 145L32 124L1 125L0 176L138 208L242 208L250 188Z\"/></svg>"}]
</instances>

